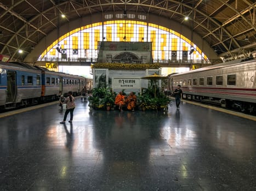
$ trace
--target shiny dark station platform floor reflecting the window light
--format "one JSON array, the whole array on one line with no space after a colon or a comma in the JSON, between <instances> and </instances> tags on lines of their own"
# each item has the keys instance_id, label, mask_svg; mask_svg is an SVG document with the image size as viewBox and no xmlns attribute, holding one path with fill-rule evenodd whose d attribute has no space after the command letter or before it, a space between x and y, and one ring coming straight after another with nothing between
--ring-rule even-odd
<instances>
[{"instance_id":1,"label":"shiny dark station platform floor reflecting the window light","mask_svg":"<svg viewBox=\"0 0 256 191\"><path fill-rule=\"evenodd\" d=\"M76 105L65 125L56 103L0 116L0 190L256 190L253 120Z\"/></svg>"}]
</instances>

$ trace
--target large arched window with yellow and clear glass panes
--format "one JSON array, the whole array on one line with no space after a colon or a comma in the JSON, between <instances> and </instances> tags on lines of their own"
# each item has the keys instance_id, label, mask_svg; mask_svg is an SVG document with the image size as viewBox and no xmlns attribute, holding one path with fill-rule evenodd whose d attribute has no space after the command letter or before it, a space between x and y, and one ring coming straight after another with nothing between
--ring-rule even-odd
<instances>
[{"instance_id":1,"label":"large arched window with yellow and clear glass panes","mask_svg":"<svg viewBox=\"0 0 256 191\"><path fill-rule=\"evenodd\" d=\"M196 44L172 29L141 21L116 20L93 23L66 33L59 38L59 44L55 40L48 46L38 61L56 58L96 61L99 41L152 42L153 62L208 59ZM192 53L191 45L195 50Z\"/></svg>"}]
</instances>

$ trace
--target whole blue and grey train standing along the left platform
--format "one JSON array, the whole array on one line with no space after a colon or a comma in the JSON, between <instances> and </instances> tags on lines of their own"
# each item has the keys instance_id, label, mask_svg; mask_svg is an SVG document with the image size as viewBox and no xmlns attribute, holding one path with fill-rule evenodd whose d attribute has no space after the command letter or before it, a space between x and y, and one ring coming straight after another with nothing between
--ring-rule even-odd
<instances>
[{"instance_id":1,"label":"whole blue and grey train standing along the left platform","mask_svg":"<svg viewBox=\"0 0 256 191\"><path fill-rule=\"evenodd\" d=\"M74 96L83 88L90 91L92 79L83 76L50 71L46 68L20 62L0 62L0 109L58 100L60 92L72 91Z\"/></svg>"}]
</instances>

